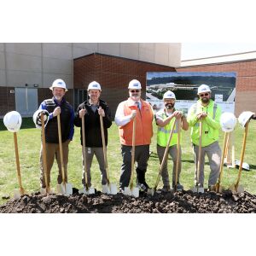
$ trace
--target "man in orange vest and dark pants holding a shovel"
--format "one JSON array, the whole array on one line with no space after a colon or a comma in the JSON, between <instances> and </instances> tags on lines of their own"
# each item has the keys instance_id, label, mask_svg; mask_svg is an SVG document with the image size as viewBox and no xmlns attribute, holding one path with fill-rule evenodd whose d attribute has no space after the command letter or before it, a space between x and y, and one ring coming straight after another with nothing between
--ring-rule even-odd
<instances>
[{"instance_id":1,"label":"man in orange vest and dark pants holding a shovel","mask_svg":"<svg viewBox=\"0 0 256 256\"><path fill-rule=\"evenodd\" d=\"M114 121L119 126L123 164L119 179L119 189L122 192L129 186L131 178L131 145L132 125L136 119L135 161L137 161L137 186L144 191L148 190L145 173L148 166L149 144L153 136L154 112L148 102L141 99L141 83L133 79L129 83L129 98L120 102Z\"/></svg>"}]
</instances>

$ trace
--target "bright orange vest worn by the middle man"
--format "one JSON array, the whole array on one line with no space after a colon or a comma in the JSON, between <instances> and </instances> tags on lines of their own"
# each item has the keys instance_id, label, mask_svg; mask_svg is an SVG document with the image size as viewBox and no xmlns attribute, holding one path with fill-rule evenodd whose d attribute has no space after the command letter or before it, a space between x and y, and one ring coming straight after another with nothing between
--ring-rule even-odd
<instances>
[{"instance_id":1,"label":"bright orange vest worn by the middle man","mask_svg":"<svg viewBox=\"0 0 256 256\"><path fill-rule=\"evenodd\" d=\"M120 105L124 108L125 116L131 114L132 110L137 110L136 115L136 139L135 145L149 145L151 143L151 137L153 136L153 119L154 113L148 102L141 100L142 107L139 110L134 102L129 98L125 102L120 102ZM133 121L130 121L124 126L119 126L119 138L122 145L132 145L132 125Z\"/></svg>"}]
</instances>

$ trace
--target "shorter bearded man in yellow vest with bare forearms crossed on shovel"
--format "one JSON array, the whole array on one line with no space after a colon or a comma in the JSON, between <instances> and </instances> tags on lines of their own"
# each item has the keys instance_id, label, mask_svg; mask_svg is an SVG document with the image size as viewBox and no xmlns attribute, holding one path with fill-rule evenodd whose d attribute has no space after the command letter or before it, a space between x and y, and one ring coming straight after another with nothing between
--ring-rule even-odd
<instances>
[{"instance_id":1,"label":"shorter bearded man in yellow vest with bare forearms crossed on shovel","mask_svg":"<svg viewBox=\"0 0 256 256\"><path fill-rule=\"evenodd\" d=\"M160 160L160 163L163 160L166 146L168 143L168 139L170 136L170 131L172 130L172 125L177 119L181 119L182 125L181 128L184 131L187 131L189 129L189 124L187 122L186 117L181 111L177 111L174 108L175 105L176 96L175 94L167 90L166 93L163 96L163 101L165 104L164 109L161 109L157 113L155 113L155 121L158 125L157 130L157 154ZM172 167L172 188L175 186L175 172L176 172L176 160L177 160L177 123L174 126L174 131L172 134L172 140L168 149L168 154L172 156L173 161L173 167ZM181 172L181 151L179 154L179 160L178 160L178 169L177 169L177 190L182 190L183 185L179 183L179 176ZM162 180L164 183L163 191L168 192L171 190L170 187L170 181L169 181L169 174L167 170L167 161L163 166L162 172Z\"/></svg>"}]
</instances>

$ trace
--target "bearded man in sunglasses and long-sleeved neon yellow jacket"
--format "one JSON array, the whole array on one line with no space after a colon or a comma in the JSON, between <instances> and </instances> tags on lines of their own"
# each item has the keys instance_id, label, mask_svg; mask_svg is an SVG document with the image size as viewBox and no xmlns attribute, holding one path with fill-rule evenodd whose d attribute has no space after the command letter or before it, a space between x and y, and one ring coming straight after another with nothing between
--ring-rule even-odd
<instances>
[{"instance_id":1,"label":"bearded man in sunglasses and long-sleeved neon yellow jacket","mask_svg":"<svg viewBox=\"0 0 256 256\"><path fill-rule=\"evenodd\" d=\"M221 149L218 145L218 130L220 128L221 108L212 101L211 89L207 84L201 84L198 87L199 100L189 108L188 122L191 126L191 141L194 149L195 160L195 183L197 177L197 162L199 153L200 125L202 124L201 134L201 170L199 176L199 186L203 188L204 184L204 164L207 154L210 165L210 176L208 179L208 188L215 185L218 180Z\"/></svg>"}]
</instances>

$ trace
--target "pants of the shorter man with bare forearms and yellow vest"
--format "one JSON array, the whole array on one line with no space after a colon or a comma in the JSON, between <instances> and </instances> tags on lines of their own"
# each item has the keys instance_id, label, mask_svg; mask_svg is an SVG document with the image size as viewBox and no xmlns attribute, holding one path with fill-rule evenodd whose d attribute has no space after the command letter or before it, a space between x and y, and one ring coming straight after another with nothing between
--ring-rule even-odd
<instances>
[{"instance_id":1,"label":"pants of the shorter man with bare forearms and yellow vest","mask_svg":"<svg viewBox=\"0 0 256 256\"><path fill-rule=\"evenodd\" d=\"M166 147L161 147L161 146L157 145L157 154L158 154L158 157L159 157L159 160L160 160L160 164L161 164L161 162L164 158L165 151L166 151ZM171 155L172 162L173 162L173 166L172 166L172 187L174 187L174 185L175 185L175 172L176 172L176 160L177 160L177 145L173 145L173 146L169 147L168 154ZM177 168L177 183L179 183L179 176L180 176L181 167L182 167L181 154L182 154L182 150L180 148L178 168ZM167 160L166 160L165 165L163 166L162 180L163 180L164 186L170 186L169 174L168 174L168 169L167 169Z\"/></svg>"}]
</instances>

